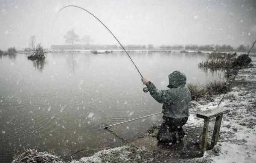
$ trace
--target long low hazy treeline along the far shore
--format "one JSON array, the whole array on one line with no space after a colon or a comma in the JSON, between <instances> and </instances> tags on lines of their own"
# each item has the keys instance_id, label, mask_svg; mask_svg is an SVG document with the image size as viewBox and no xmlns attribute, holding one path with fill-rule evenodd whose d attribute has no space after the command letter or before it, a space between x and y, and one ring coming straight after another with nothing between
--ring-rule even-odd
<instances>
[{"instance_id":1,"label":"long low hazy treeline along the far shore","mask_svg":"<svg viewBox=\"0 0 256 163\"><path fill-rule=\"evenodd\" d=\"M250 46L240 45L239 47L232 47L231 45L125 45L125 49L128 50L186 50L186 51L249 51ZM118 45L52 45L52 50L64 51L64 50L120 50L122 49ZM253 48L256 51L256 48Z\"/></svg>"}]
</instances>

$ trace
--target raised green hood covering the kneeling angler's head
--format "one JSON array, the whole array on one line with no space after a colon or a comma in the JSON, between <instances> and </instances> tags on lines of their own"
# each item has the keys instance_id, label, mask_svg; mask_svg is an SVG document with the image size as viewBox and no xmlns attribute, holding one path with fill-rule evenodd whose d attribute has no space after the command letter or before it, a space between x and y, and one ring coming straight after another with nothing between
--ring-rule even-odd
<instances>
[{"instance_id":1,"label":"raised green hood covering the kneeling angler's head","mask_svg":"<svg viewBox=\"0 0 256 163\"><path fill-rule=\"evenodd\" d=\"M169 88L177 88L177 87L184 87L186 84L186 75L181 73L180 71L174 71L170 75L169 78Z\"/></svg>"}]
</instances>

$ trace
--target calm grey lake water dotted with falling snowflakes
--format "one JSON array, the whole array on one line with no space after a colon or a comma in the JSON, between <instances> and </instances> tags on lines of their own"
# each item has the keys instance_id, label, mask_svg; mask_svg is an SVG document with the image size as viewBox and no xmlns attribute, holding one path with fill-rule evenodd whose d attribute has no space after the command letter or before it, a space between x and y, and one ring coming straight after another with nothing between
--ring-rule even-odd
<instances>
[{"instance_id":1,"label":"calm grey lake water dotted with falling snowflakes","mask_svg":"<svg viewBox=\"0 0 256 163\"><path fill-rule=\"evenodd\" d=\"M131 53L144 77L160 89L174 70L188 83L222 79L223 73L198 69L205 55L197 53ZM26 54L0 58L0 162L11 162L14 150L35 148L61 156L86 149L83 155L131 141L161 115L99 130L160 112L125 53L94 55L47 53L45 62Z\"/></svg>"}]
</instances>

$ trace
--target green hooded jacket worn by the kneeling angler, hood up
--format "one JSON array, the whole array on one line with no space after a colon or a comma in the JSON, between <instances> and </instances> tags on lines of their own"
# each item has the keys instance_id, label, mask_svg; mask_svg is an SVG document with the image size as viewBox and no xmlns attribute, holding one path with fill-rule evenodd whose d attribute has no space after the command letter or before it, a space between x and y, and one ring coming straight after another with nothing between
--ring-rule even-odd
<instances>
[{"instance_id":1,"label":"green hooded jacket worn by the kneeling angler, hood up","mask_svg":"<svg viewBox=\"0 0 256 163\"><path fill-rule=\"evenodd\" d=\"M186 85L186 76L180 71L174 71L169 76L168 90L158 90L151 82L148 82L148 90L151 96L163 103L163 115L169 118L189 117L190 91Z\"/></svg>"}]
</instances>

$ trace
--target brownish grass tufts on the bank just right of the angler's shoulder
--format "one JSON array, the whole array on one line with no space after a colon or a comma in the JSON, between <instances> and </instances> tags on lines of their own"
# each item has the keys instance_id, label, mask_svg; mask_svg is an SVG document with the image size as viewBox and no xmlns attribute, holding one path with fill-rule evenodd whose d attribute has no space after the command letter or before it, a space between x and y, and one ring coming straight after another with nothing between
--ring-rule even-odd
<instances>
[{"instance_id":1,"label":"brownish grass tufts on the bank just right of the angler's shoulder","mask_svg":"<svg viewBox=\"0 0 256 163\"><path fill-rule=\"evenodd\" d=\"M212 95L220 95L228 91L225 82L213 81L205 85L188 84L192 101L213 101Z\"/></svg>"}]
</instances>

